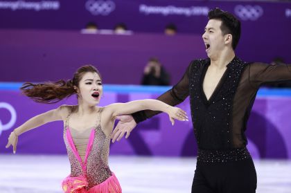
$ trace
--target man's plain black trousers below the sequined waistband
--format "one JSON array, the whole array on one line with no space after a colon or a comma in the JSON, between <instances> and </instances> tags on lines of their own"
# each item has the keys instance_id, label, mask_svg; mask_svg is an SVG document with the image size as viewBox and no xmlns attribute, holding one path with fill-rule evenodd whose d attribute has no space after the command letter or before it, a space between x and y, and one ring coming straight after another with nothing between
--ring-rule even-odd
<instances>
[{"instance_id":1,"label":"man's plain black trousers below the sequined waistband","mask_svg":"<svg viewBox=\"0 0 291 193\"><path fill-rule=\"evenodd\" d=\"M192 193L254 193L256 169L252 158L226 163L197 161Z\"/></svg>"}]
</instances>

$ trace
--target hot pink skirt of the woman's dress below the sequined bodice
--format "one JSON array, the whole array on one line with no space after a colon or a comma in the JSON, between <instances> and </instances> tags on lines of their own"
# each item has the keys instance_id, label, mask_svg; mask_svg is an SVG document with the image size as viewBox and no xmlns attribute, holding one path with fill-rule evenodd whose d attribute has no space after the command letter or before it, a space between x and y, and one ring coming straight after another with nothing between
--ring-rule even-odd
<instances>
[{"instance_id":1,"label":"hot pink skirt of the woman's dress below the sequined bodice","mask_svg":"<svg viewBox=\"0 0 291 193\"><path fill-rule=\"evenodd\" d=\"M119 184L116 176L112 173L112 176L107 178L106 181L91 187L87 190L88 182L85 176L71 177L62 181L62 190L65 193L121 193L121 185Z\"/></svg>"}]
</instances>

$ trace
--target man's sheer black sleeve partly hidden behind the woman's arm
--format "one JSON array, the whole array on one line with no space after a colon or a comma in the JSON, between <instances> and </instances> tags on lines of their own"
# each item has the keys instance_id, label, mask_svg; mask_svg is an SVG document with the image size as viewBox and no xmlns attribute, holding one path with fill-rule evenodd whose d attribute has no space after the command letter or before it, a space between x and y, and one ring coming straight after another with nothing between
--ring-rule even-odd
<instances>
[{"instance_id":1,"label":"man's sheer black sleeve partly hidden behind the woman's arm","mask_svg":"<svg viewBox=\"0 0 291 193\"><path fill-rule=\"evenodd\" d=\"M188 68L186 69L186 72L184 73L182 79L173 86L172 89L169 91L166 91L166 93L162 94L157 98L157 100L161 100L162 102L165 102L166 104L170 104L171 106L175 106L181 102L183 102L189 95L189 77L191 72L191 66L193 62L189 64ZM136 123L142 122L143 120L146 120L147 118L151 118L152 116L157 115L158 113L161 113L161 111L139 111L136 113L132 113L132 117L134 118Z\"/></svg>"}]
</instances>

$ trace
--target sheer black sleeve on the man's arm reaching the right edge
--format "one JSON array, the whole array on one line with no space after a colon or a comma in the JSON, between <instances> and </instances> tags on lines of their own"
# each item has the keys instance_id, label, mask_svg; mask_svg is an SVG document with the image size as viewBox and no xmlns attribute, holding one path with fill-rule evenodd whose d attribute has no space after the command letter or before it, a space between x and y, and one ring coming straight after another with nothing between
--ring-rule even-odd
<instances>
[{"instance_id":1,"label":"sheer black sleeve on the man's arm reaching the right edge","mask_svg":"<svg viewBox=\"0 0 291 193\"><path fill-rule=\"evenodd\" d=\"M267 82L285 80L291 80L290 65L252 63L249 66L249 82L256 89Z\"/></svg>"}]
</instances>

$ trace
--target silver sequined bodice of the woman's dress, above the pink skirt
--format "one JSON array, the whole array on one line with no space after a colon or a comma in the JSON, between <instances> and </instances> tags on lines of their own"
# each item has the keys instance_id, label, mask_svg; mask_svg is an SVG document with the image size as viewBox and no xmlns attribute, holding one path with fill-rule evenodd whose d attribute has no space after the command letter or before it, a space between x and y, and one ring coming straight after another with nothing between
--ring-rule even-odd
<instances>
[{"instance_id":1,"label":"silver sequined bodice of the woman's dress, above the pink skirt","mask_svg":"<svg viewBox=\"0 0 291 193\"><path fill-rule=\"evenodd\" d=\"M100 115L102 109L98 111L98 116L96 118L96 127L94 127L94 138L91 148L87 149L88 156L87 162L78 160L76 153L74 154L73 149L69 143L68 135L71 135L68 121L71 113L67 117L67 120L64 124L64 143L67 147L67 153L69 156L69 162L71 163L71 177L75 176L87 176L87 181L89 187L98 185L105 181L107 178L112 176L112 172L108 166L108 156L109 156L109 144L110 138L107 137L101 126L100 126ZM67 131L69 129L69 132ZM76 137L76 133L75 133ZM89 138L87 139L88 142ZM75 146L76 147L76 146ZM84 169L85 168L85 169Z\"/></svg>"}]
</instances>

